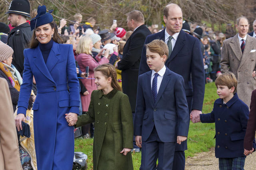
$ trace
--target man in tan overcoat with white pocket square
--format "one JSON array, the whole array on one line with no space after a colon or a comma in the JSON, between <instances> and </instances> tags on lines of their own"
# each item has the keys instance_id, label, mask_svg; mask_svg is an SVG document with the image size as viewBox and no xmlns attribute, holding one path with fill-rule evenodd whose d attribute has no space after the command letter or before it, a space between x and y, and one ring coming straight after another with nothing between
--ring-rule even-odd
<instances>
[{"instance_id":1,"label":"man in tan overcoat with white pocket square","mask_svg":"<svg viewBox=\"0 0 256 170\"><path fill-rule=\"evenodd\" d=\"M236 20L238 34L223 42L221 72L233 72L238 80L237 94L250 107L252 90L256 89L256 77L252 77L256 65L256 39L249 36L249 22L242 16Z\"/></svg>"}]
</instances>

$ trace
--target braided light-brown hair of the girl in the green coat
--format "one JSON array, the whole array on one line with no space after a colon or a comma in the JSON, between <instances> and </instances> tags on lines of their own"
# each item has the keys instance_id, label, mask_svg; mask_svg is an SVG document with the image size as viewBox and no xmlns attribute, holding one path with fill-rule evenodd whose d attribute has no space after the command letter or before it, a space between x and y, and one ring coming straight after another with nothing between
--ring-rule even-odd
<instances>
[{"instance_id":1,"label":"braided light-brown hair of the girl in the green coat","mask_svg":"<svg viewBox=\"0 0 256 170\"><path fill-rule=\"evenodd\" d=\"M116 75L116 69L112 64L102 64L94 68L94 72L100 71L106 78L111 77L111 86L112 88L119 90L122 92L122 88L119 86L117 82L117 75Z\"/></svg>"}]
</instances>

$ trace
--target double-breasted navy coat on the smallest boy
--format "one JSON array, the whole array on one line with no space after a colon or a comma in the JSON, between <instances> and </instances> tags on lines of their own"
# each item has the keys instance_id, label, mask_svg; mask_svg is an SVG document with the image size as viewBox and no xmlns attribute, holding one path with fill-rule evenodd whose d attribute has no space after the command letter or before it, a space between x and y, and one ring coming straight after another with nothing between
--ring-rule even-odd
<instances>
[{"instance_id":1,"label":"double-breasted navy coat on the smallest boy","mask_svg":"<svg viewBox=\"0 0 256 170\"><path fill-rule=\"evenodd\" d=\"M223 99L215 100L211 113L200 114L202 123L215 122L216 158L244 156L244 136L248 118L248 106L236 93L226 104L223 104Z\"/></svg>"}]
</instances>

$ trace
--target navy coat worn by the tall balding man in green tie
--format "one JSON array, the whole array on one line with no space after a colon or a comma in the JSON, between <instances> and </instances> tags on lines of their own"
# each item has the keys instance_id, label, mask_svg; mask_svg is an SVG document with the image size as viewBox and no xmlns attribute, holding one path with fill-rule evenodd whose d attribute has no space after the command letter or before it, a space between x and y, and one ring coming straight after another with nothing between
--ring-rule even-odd
<instances>
[{"instance_id":1,"label":"navy coat worn by the tall balding man in green tie","mask_svg":"<svg viewBox=\"0 0 256 170\"><path fill-rule=\"evenodd\" d=\"M164 31L165 29L159 33L148 35L144 44L148 44L154 39L164 41ZM174 49L165 65L184 78L186 96L193 96L194 102L192 103L192 109L202 110L205 73L199 40L181 30ZM148 64L146 63L146 48L144 46L140 61L139 75L149 70ZM192 77L190 75L192 75ZM188 106L190 107L190 103L188 103Z\"/></svg>"}]
</instances>

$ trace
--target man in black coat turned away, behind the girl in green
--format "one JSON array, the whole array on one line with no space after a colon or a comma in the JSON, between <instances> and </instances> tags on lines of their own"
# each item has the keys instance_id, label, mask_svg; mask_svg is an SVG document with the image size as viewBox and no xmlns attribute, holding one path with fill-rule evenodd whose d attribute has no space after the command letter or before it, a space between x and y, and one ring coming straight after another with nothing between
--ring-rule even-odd
<instances>
[{"instance_id":1,"label":"man in black coat turned away, behind the girl in green","mask_svg":"<svg viewBox=\"0 0 256 170\"><path fill-rule=\"evenodd\" d=\"M122 89L124 94L127 94L129 97L132 107L132 116L134 117L140 57L144 41L151 32L144 25L143 14L137 10L133 10L127 14L127 25L133 33L124 45L123 57L116 64L116 68L122 70ZM135 142L134 148L138 149Z\"/></svg>"}]
</instances>

